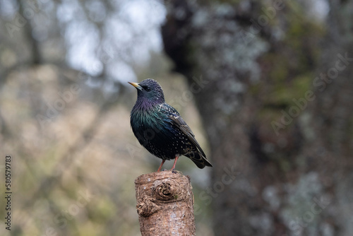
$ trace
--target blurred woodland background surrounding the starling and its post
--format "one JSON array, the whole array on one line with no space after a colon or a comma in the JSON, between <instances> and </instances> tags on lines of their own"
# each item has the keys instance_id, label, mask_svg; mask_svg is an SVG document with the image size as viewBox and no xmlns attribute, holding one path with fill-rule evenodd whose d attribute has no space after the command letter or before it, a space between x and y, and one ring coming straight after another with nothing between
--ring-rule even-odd
<instances>
[{"instance_id":1,"label":"blurred woodland background surrounding the starling and its post","mask_svg":"<svg viewBox=\"0 0 353 236\"><path fill-rule=\"evenodd\" d=\"M134 179L160 160L133 136L126 82L145 78L213 163L177 163L198 235L352 235L352 12L352 0L0 1L0 189L11 155L13 191L0 235L140 235Z\"/></svg>"}]
</instances>

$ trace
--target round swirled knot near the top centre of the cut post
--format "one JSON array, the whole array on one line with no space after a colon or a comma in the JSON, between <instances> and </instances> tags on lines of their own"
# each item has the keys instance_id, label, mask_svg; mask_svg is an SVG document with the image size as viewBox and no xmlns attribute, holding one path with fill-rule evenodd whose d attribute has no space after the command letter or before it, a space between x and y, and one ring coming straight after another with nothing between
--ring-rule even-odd
<instances>
[{"instance_id":1,"label":"round swirled knot near the top centre of the cut post","mask_svg":"<svg viewBox=\"0 0 353 236\"><path fill-rule=\"evenodd\" d=\"M155 198L160 201L178 200L179 184L173 179L156 180L153 183Z\"/></svg>"}]
</instances>

